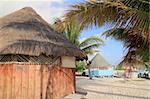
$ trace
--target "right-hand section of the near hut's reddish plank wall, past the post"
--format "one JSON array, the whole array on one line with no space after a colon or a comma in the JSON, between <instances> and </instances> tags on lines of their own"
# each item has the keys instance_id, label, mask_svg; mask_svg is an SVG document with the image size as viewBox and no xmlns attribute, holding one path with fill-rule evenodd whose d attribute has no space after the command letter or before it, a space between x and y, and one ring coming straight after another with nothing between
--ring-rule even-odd
<instances>
[{"instance_id":1,"label":"right-hand section of the near hut's reddish plank wall, past the post","mask_svg":"<svg viewBox=\"0 0 150 99\"><path fill-rule=\"evenodd\" d=\"M69 68L53 68L53 98L60 99L75 91L75 70Z\"/></svg>"}]
</instances>

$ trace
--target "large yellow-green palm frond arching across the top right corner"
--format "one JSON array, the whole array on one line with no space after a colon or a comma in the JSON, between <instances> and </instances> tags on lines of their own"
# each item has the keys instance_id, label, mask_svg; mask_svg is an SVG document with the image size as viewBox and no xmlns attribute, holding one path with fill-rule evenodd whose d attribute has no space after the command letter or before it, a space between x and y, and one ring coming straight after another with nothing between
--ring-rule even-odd
<instances>
[{"instance_id":1,"label":"large yellow-green palm frond arching across the top right corner","mask_svg":"<svg viewBox=\"0 0 150 99\"><path fill-rule=\"evenodd\" d=\"M103 26L113 22L115 27L149 30L149 3L146 0L104 0L73 5L65 14L65 21L75 18L83 27Z\"/></svg>"}]
</instances>

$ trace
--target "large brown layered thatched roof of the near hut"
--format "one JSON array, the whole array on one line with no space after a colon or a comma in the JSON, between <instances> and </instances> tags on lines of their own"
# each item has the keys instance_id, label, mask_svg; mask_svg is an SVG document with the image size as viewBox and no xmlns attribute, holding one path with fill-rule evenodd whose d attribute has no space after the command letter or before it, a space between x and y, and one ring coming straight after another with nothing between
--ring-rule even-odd
<instances>
[{"instance_id":1,"label":"large brown layered thatched roof of the near hut","mask_svg":"<svg viewBox=\"0 0 150 99\"><path fill-rule=\"evenodd\" d=\"M0 54L86 57L30 7L0 18Z\"/></svg>"}]
</instances>

